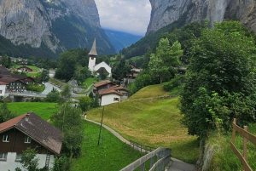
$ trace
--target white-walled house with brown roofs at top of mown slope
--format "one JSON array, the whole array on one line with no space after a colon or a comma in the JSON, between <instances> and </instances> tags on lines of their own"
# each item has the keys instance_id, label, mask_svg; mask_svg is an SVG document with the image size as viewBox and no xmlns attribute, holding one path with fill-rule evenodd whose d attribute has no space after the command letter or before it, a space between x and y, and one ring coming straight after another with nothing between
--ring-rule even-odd
<instances>
[{"instance_id":1,"label":"white-walled house with brown roofs at top of mown slope","mask_svg":"<svg viewBox=\"0 0 256 171\"><path fill-rule=\"evenodd\" d=\"M121 100L127 100L130 96L130 90L122 86L115 85L110 88L100 89L100 105L109 105Z\"/></svg>"}]
</instances>

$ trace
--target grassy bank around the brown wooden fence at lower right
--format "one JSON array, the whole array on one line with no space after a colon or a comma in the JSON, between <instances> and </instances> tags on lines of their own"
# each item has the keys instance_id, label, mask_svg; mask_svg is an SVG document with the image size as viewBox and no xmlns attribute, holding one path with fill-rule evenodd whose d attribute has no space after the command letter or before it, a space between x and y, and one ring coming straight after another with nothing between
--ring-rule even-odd
<instances>
[{"instance_id":1,"label":"grassy bank around the brown wooden fence at lower right","mask_svg":"<svg viewBox=\"0 0 256 171\"><path fill-rule=\"evenodd\" d=\"M256 134L256 123L250 124L248 126L248 131L252 134ZM214 132L210 134L209 139L207 140L207 149L213 149L213 151L207 150L205 152L205 156L209 157L213 154L212 161L206 164L209 169L208 170L232 170L232 171L240 171L242 170L242 164L236 154L230 149L230 141L232 139L232 132L230 131L228 134L219 134ZM236 133L235 139L236 148L242 154L243 148L243 137ZM248 141L247 147L247 162L249 166L256 170L256 146Z\"/></svg>"}]
</instances>

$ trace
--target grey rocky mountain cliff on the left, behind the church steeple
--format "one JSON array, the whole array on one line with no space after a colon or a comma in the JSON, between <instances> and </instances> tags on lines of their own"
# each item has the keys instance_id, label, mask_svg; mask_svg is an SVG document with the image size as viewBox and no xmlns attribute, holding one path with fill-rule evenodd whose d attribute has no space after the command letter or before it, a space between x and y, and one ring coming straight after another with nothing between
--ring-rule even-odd
<instances>
[{"instance_id":1,"label":"grey rocky mountain cliff on the left, behind the church steeple","mask_svg":"<svg viewBox=\"0 0 256 171\"><path fill-rule=\"evenodd\" d=\"M0 35L15 45L49 48L54 54L90 49L96 37L99 54L115 52L94 0L0 0Z\"/></svg>"}]
</instances>

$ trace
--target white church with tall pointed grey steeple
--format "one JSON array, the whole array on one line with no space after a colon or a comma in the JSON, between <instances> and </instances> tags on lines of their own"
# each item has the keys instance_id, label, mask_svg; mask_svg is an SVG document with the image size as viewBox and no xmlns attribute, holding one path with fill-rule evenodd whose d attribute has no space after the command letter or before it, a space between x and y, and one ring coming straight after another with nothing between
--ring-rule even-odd
<instances>
[{"instance_id":1,"label":"white church with tall pointed grey steeple","mask_svg":"<svg viewBox=\"0 0 256 171\"><path fill-rule=\"evenodd\" d=\"M112 68L108 66L106 62L102 61L101 63L96 64L96 56L98 55L96 51L96 38L94 39L89 55L90 55L90 58L89 58L88 68L91 71L91 73L93 74L93 72L96 71L97 76L100 76L102 73L107 73L108 74L107 77L111 77Z\"/></svg>"}]
</instances>

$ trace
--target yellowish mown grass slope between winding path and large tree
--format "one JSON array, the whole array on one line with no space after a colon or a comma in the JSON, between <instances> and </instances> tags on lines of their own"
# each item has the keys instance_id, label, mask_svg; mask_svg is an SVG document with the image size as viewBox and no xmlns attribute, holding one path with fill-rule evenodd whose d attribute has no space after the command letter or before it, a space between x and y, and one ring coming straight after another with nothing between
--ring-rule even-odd
<instances>
[{"instance_id":1,"label":"yellowish mown grass slope between winding path and large tree","mask_svg":"<svg viewBox=\"0 0 256 171\"><path fill-rule=\"evenodd\" d=\"M178 98L152 98L168 94L160 85L143 88L129 100L105 106L103 123L127 140L154 147L170 147L173 157L195 162L199 156L198 141L180 124L182 116L177 109ZM97 122L101 121L101 116L102 108L87 113L89 119Z\"/></svg>"}]
</instances>

